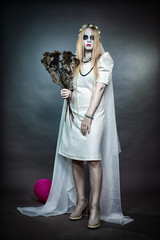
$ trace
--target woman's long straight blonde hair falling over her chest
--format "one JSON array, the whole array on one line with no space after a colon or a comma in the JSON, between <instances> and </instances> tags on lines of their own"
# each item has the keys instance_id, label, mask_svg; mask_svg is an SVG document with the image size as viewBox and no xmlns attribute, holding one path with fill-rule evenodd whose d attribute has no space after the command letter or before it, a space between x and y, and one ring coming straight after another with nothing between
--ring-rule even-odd
<instances>
[{"instance_id":1,"label":"woman's long straight blonde hair falling over her chest","mask_svg":"<svg viewBox=\"0 0 160 240\"><path fill-rule=\"evenodd\" d=\"M89 28L88 24L86 24L86 28ZM84 43L83 43L83 35L86 30L86 28L82 28L79 38L77 41L77 53L76 58L79 60L79 65L75 69L75 75L78 75L79 71L81 70L81 63L83 62L84 58ZM92 60L91 64L93 66L93 72L95 74L95 77L98 78L98 60L100 57L101 49L100 49L100 36L99 36L99 30L96 28L91 28L94 35L94 45L92 49Z\"/></svg>"}]
</instances>

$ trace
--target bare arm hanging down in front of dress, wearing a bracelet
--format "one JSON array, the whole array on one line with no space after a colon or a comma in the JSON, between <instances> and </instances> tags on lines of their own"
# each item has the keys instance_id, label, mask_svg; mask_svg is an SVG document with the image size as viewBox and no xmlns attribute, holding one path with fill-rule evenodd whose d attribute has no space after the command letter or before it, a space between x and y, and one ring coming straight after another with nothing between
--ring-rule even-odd
<instances>
[{"instance_id":1,"label":"bare arm hanging down in front of dress, wearing a bracelet","mask_svg":"<svg viewBox=\"0 0 160 240\"><path fill-rule=\"evenodd\" d=\"M88 108L86 115L93 117L97 107L100 104L100 101L101 101L101 98L102 98L102 95L104 93L106 86L107 86L106 84L101 83L101 82L96 83L96 87L93 92L90 106ZM82 123L81 123L81 131L84 136L86 136L87 132L88 132L88 134L90 133L91 124L92 124L92 119L88 118L88 117L84 117L84 119L82 120Z\"/></svg>"}]
</instances>

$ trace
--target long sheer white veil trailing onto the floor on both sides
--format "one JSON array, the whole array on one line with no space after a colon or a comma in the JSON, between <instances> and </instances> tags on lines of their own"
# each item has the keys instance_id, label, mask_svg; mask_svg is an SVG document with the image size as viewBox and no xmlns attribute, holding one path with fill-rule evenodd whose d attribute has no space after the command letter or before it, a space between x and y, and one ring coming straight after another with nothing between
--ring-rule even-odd
<instances>
[{"instance_id":1,"label":"long sheer white veil trailing onto the floor on both sides","mask_svg":"<svg viewBox=\"0 0 160 240\"><path fill-rule=\"evenodd\" d=\"M108 63L111 57L108 53ZM110 59L110 60L109 60ZM111 74L110 74L111 78ZM77 203L77 193L72 175L71 159L58 154L62 129L65 121L66 100L63 103L60 128L58 134L52 186L48 200L41 207L17 208L28 216L55 216L71 213ZM112 79L104 92L105 130L102 141L103 183L100 197L101 219L106 222L126 224L133 219L124 216L121 209L119 151L117 135ZM86 162L85 162L86 163Z\"/></svg>"}]
</instances>

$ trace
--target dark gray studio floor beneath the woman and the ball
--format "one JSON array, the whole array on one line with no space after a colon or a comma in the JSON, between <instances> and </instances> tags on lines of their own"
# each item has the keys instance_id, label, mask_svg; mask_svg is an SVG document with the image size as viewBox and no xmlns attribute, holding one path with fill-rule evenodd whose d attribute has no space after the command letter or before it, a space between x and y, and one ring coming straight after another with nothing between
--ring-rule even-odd
<instances>
[{"instance_id":1,"label":"dark gray studio floor beneath the woman and the ball","mask_svg":"<svg viewBox=\"0 0 160 240\"><path fill-rule=\"evenodd\" d=\"M87 218L70 221L69 214L54 217L28 217L20 214L17 206L38 206L33 192L6 189L3 191L1 219L3 239L159 239L159 200L157 193L122 193L123 212L134 222L121 226L102 221L99 229L89 230ZM125 196L125 200L124 200ZM125 207L124 207L125 206Z\"/></svg>"}]
</instances>

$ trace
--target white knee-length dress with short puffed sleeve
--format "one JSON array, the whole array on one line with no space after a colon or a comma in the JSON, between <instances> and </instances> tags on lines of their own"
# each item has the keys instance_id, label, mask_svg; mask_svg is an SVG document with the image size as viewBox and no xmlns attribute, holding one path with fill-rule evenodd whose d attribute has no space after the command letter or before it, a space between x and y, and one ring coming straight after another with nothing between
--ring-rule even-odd
<instances>
[{"instance_id":1,"label":"white knee-length dress with short puffed sleeve","mask_svg":"<svg viewBox=\"0 0 160 240\"><path fill-rule=\"evenodd\" d=\"M110 65L107 64L108 59ZM81 73L85 75L90 72L91 62L84 63ZM90 134L84 136L81 132L81 122L90 105L91 97L96 82L109 84L113 68L113 60L109 53L104 53L98 62L99 77L94 77L93 70L86 76L80 73L73 79L74 91L71 98L71 109L74 115L74 122L70 124L69 114L64 122L59 154L77 160L101 160L101 145L105 128L104 120L104 96L94 113ZM109 74L108 74L109 73Z\"/></svg>"}]
</instances>

